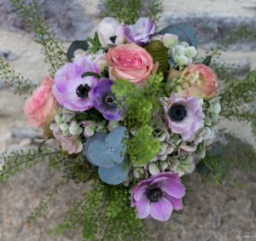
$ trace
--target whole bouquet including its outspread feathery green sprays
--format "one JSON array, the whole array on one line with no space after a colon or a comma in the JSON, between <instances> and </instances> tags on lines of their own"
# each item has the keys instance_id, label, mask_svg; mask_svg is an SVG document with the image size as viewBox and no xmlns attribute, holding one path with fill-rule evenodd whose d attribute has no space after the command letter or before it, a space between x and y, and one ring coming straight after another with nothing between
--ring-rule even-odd
<instances>
[{"instance_id":1,"label":"whole bouquet including its outspread feathery green sprays","mask_svg":"<svg viewBox=\"0 0 256 241\"><path fill-rule=\"evenodd\" d=\"M181 212L193 191L190 174L236 184L233 165L256 168L253 147L217 126L221 115L247 121L255 132L247 106L256 101L256 72L216 61L241 37L255 41L254 32L241 26L200 57L191 27L159 31L160 0L104 0L108 17L94 37L66 49L45 26L38 1L10 3L35 32L49 77L36 87L0 58L0 77L15 94L29 95L28 125L42 129L36 148L0 154L0 182L42 162L61 172L29 224L74 181L90 188L49 234L79 227L83 240L148 241L154 235L144 220Z\"/></svg>"}]
</instances>

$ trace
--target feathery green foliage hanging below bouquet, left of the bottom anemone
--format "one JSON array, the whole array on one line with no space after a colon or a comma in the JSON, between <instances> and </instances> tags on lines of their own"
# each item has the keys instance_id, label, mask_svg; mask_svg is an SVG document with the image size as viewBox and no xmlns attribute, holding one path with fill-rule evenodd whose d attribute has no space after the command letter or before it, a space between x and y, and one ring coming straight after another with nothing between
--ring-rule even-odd
<instances>
[{"instance_id":1,"label":"feathery green foliage hanging below bouquet, left of the bottom anemone","mask_svg":"<svg viewBox=\"0 0 256 241\"><path fill-rule=\"evenodd\" d=\"M97 183L50 233L60 235L80 226L83 240L149 240L146 227L130 207L129 190L125 186Z\"/></svg>"}]
</instances>

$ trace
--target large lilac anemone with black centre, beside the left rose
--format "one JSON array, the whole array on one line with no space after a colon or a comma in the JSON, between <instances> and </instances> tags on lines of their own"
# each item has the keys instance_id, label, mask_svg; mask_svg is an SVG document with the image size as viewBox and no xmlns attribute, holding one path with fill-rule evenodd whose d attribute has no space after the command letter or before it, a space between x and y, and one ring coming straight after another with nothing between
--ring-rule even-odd
<instances>
[{"instance_id":1,"label":"large lilac anemone with black centre, beside the left rose","mask_svg":"<svg viewBox=\"0 0 256 241\"><path fill-rule=\"evenodd\" d=\"M84 72L99 73L96 64L86 56L79 56L55 73L53 95L61 106L73 112L84 112L93 107L90 91L96 85L96 77L82 77Z\"/></svg>"}]
</instances>

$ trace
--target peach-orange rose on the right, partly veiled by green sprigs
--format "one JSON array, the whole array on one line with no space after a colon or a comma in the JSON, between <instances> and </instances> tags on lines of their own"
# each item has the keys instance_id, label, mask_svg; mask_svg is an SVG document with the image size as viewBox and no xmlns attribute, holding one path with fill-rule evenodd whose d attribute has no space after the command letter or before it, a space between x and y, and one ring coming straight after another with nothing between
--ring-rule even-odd
<instances>
[{"instance_id":1,"label":"peach-orange rose on the right, partly veiled by green sprigs","mask_svg":"<svg viewBox=\"0 0 256 241\"><path fill-rule=\"evenodd\" d=\"M203 99L218 95L217 76L208 66L191 65L185 71L184 89L177 91L178 96L196 96Z\"/></svg>"}]
</instances>

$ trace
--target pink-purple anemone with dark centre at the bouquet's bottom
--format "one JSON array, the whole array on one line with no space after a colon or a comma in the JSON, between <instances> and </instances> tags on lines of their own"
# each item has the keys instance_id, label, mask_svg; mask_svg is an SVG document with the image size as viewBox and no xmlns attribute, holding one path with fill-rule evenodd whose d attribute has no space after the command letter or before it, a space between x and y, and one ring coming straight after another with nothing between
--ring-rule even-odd
<instances>
[{"instance_id":1,"label":"pink-purple anemone with dark centre at the bouquet's bottom","mask_svg":"<svg viewBox=\"0 0 256 241\"><path fill-rule=\"evenodd\" d=\"M172 210L183 209L185 187L177 174L162 172L139 181L131 190L131 207L143 219L150 215L158 221L167 221Z\"/></svg>"}]
</instances>

